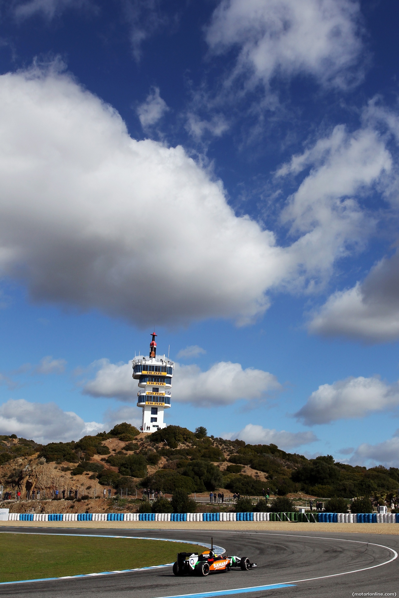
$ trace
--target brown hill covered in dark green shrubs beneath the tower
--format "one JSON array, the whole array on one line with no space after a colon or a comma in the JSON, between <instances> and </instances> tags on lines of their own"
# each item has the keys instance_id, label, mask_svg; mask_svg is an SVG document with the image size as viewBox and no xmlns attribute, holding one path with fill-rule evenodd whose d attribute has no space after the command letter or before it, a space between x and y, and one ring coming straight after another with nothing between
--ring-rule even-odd
<instances>
[{"instance_id":1,"label":"brown hill covered in dark green shrubs beneath the tower","mask_svg":"<svg viewBox=\"0 0 399 598\"><path fill-rule=\"evenodd\" d=\"M32 496L33 490L40 490L41 499L52 498L56 490L61 496L65 490L71 503L64 505L64 511L92 507L89 502L80 502L96 496L96 510L100 512L109 506L109 488L112 496L122 490L123 496L133 498L141 498L143 488L166 495L177 488L188 494L223 489L242 496L261 496L262 490L269 488L270 494L280 496L305 493L322 498L373 496L375 501L391 500L397 495L399 469L354 467L334 462L330 455L309 460L275 444L251 445L209 437L205 428L191 432L167 426L153 434L140 434L124 422L109 432L70 443L40 445L14 434L1 436L0 484L4 494L11 492L12 498L17 490L23 499L27 493ZM103 489L107 498L103 498Z\"/></svg>"}]
</instances>

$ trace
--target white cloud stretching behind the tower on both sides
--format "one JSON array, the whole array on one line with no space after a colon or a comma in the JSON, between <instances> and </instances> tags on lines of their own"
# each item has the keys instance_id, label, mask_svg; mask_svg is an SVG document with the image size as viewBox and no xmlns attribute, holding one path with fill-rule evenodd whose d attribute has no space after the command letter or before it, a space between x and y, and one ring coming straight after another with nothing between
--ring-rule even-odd
<instances>
[{"instance_id":1,"label":"white cloud stretching behind the tower on both sides","mask_svg":"<svg viewBox=\"0 0 399 598\"><path fill-rule=\"evenodd\" d=\"M132 364L111 364L101 359L96 364L99 370L94 380L83 387L83 392L92 396L106 396L120 401L135 401L138 386L132 379ZM247 368L240 364L221 361L208 371L201 371L197 365L176 364L172 379L172 400L193 403L196 407L208 405L230 405L239 399L261 399L267 393L282 389L273 374L263 370Z\"/></svg>"}]
</instances>

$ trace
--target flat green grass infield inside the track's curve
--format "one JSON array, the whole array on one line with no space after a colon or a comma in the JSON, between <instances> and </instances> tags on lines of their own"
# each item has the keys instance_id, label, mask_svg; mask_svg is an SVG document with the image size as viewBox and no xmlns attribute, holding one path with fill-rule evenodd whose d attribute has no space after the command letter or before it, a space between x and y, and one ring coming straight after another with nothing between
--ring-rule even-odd
<instances>
[{"instance_id":1,"label":"flat green grass infield inside the track's curve","mask_svg":"<svg viewBox=\"0 0 399 598\"><path fill-rule=\"evenodd\" d=\"M22 581L163 565L196 544L23 533L0 536L0 581Z\"/></svg>"}]
</instances>

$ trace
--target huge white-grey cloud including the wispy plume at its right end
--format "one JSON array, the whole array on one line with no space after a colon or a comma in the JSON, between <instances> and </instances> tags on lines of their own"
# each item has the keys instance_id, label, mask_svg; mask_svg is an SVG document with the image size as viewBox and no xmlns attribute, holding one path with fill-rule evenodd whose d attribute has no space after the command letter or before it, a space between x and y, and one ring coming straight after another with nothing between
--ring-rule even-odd
<instances>
[{"instance_id":1,"label":"huge white-grey cloud including the wispy plume at its right end","mask_svg":"<svg viewBox=\"0 0 399 598\"><path fill-rule=\"evenodd\" d=\"M348 195L366 193L390 164L376 133L341 127L323 160L316 144L283 166L279 181L299 164L312 170L282 216L296 237L282 247L237 217L221 182L182 147L130 138L111 106L54 65L0 77L0 131L2 275L34 301L138 325L154 313L163 324L247 324L270 289L312 289L371 228Z\"/></svg>"}]
</instances>

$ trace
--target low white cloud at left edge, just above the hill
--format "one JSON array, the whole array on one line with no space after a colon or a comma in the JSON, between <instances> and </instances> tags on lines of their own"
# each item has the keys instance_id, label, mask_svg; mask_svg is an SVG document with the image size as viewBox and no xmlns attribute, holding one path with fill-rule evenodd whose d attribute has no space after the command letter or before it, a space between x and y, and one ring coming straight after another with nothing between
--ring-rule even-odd
<instances>
[{"instance_id":1,"label":"low white cloud at left edge, just above the hill","mask_svg":"<svg viewBox=\"0 0 399 598\"><path fill-rule=\"evenodd\" d=\"M79 440L103 429L102 423L85 423L76 413L63 411L55 403L10 399L0 405L0 434L16 434L36 443Z\"/></svg>"}]
</instances>

